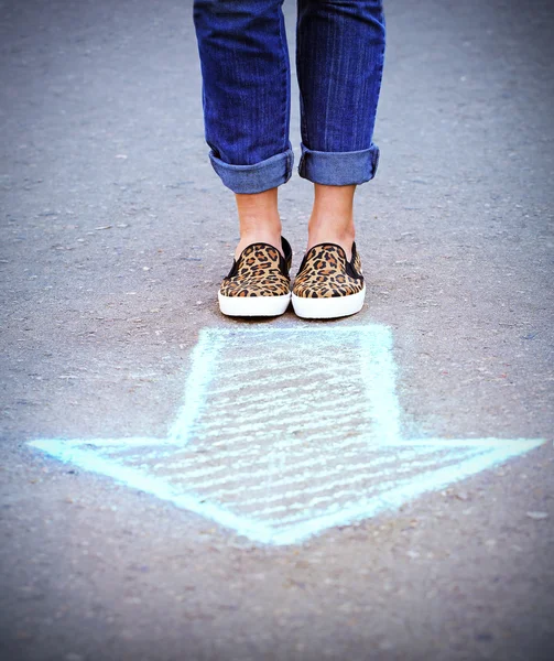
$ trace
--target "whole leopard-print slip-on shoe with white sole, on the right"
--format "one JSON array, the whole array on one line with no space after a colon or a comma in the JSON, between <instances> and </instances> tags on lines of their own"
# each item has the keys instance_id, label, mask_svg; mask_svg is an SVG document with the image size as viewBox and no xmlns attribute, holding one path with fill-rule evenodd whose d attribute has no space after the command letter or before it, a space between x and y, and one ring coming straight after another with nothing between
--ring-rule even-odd
<instances>
[{"instance_id":1,"label":"whole leopard-print slip-on shoe with white sole, on the right","mask_svg":"<svg viewBox=\"0 0 554 661\"><path fill-rule=\"evenodd\" d=\"M356 243L352 243L350 261L337 243L318 243L306 252L292 288L297 316L328 319L356 314L365 297L366 284Z\"/></svg>"}]
</instances>

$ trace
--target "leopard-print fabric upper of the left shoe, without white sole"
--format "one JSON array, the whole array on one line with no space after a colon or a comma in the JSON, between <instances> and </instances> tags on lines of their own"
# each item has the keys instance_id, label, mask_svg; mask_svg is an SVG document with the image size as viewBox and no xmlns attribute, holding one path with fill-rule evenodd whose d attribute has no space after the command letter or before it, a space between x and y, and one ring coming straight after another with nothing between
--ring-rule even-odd
<instances>
[{"instance_id":1,"label":"leopard-print fabric upper of the left shoe, without white sole","mask_svg":"<svg viewBox=\"0 0 554 661\"><path fill-rule=\"evenodd\" d=\"M269 243L252 243L245 248L221 283L221 295L245 297L289 294L292 252L284 240L283 248L286 259Z\"/></svg>"}]
</instances>

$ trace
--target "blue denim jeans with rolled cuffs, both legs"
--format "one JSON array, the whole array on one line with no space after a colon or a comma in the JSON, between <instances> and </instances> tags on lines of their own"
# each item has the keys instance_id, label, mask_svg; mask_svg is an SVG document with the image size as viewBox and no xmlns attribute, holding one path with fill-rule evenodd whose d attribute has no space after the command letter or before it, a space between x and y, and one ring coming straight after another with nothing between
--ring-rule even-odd
<instances>
[{"instance_id":1,"label":"blue denim jeans with rolled cuffs, both legs","mask_svg":"<svg viewBox=\"0 0 554 661\"><path fill-rule=\"evenodd\" d=\"M283 0L195 0L206 141L235 193L291 177L291 72ZM372 142L384 57L382 0L297 0L298 173L314 183L374 176Z\"/></svg>"}]
</instances>

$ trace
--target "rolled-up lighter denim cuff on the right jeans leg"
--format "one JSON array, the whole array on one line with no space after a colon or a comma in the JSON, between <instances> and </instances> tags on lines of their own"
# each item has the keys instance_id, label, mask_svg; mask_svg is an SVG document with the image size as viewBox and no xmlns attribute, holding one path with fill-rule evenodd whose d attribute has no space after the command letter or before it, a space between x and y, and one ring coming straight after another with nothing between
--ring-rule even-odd
<instances>
[{"instance_id":1,"label":"rolled-up lighter denim cuff on the right jeans leg","mask_svg":"<svg viewBox=\"0 0 554 661\"><path fill-rule=\"evenodd\" d=\"M298 174L314 184L348 186L372 180L379 163L379 148L355 152L319 152L302 144Z\"/></svg>"}]
</instances>

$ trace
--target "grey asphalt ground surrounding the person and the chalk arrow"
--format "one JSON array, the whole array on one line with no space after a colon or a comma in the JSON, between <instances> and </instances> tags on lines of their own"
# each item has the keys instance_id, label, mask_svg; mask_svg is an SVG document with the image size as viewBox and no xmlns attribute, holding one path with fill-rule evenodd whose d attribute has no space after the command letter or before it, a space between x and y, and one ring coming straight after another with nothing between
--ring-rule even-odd
<instances>
[{"instance_id":1,"label":"grey asphalt ground surrounding the person and the chalk arrow","mask_svg":"<svg viewBox=\"0 0 554 661\"><path fill-rule=\"evenodd\" d=\"M552 3L387 9L368 304L326 326L393 329L406 434L546 443L285 548L31 449L163 436L199 329L253 322L217 307L238 237L191 0L0 2L0 658L553 658ZM311 195L281 192L295 268Z\"/></svg>"}]
</instances>

